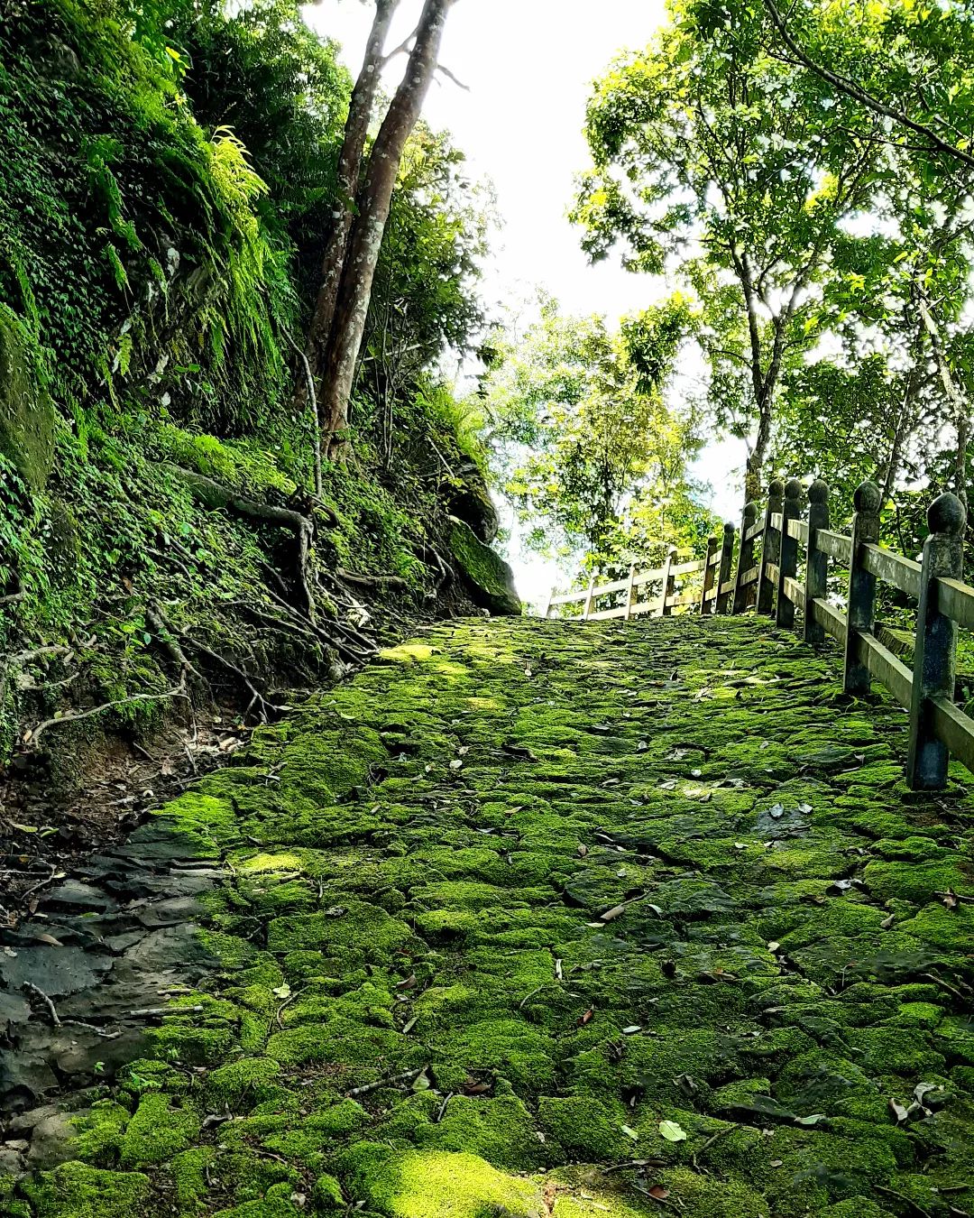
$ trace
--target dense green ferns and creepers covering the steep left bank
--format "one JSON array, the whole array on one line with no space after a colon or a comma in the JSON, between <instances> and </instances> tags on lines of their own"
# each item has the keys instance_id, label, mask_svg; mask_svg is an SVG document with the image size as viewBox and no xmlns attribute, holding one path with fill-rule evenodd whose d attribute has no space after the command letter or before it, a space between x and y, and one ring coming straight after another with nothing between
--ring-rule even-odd
<instances>
[{"instance_id":1,"label":"dense green ferns and creepers covering the steep left bank","mask_svg":"<svg viewBox=\"0 0 974 1218\"><path fill-rule=\"evenodd\" d=\"M477 220L450 209L444 139L424 133L397 192L422 252L386 251L379 292L421 314L421 358L371 371L320 501L313 420L291 404L349 91L290 0L0 0L0 764L65 709L155 722L180 649L241 706L241 672L267 692L359 658L336 621L360 624L366 593L340 569L380 577L380 628L433 611L455 471L483 484L427 370L480 319ZM384 350L416 346L390 326ZM303 516L309 553L194 498L180 469ZM301 610L306 585L317 624L280 604ZM40 659L24 676L11 654Z\"/></svg>"}]
</instances>

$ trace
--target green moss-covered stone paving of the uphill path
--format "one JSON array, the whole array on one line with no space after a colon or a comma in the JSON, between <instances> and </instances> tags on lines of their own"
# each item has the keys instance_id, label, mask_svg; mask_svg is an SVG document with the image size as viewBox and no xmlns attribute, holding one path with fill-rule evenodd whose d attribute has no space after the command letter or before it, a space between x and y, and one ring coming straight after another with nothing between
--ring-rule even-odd
<instances>
[{"instance_id":1,"label":"green moss-covered stone paving of the uphill path","mask_svg":"<svg viewBox=\"0 0 974 1218\"><path fill-rule=\"evenodd\" d=\"M224 971L7 1212L972 1211L970 780L838 689L751 618L385 653L139 831Z\"/></svg>"}]
</instances>

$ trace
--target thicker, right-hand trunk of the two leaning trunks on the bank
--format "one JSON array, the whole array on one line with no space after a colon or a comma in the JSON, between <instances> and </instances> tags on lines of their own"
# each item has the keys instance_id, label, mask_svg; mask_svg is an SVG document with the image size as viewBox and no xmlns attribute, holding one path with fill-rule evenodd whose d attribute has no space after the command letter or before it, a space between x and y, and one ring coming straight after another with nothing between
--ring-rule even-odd
<instances>
[{"instance_id":1,"label":"thicker, right-hand trunk of the two leaning trunks on the bank","mask_svg":"<svg viewBox=\"0 0 974 1218\"><path fill-rule=\"evenodd\" d=\"M453 0L425 0L405 76L369 155L365 181L358 196L358 214L342 266L324 376L321 417L329 456L341 446L348 423L348 400L399 161L436 72L443 26L452 4Z\"/></svg>"}]
</instances>

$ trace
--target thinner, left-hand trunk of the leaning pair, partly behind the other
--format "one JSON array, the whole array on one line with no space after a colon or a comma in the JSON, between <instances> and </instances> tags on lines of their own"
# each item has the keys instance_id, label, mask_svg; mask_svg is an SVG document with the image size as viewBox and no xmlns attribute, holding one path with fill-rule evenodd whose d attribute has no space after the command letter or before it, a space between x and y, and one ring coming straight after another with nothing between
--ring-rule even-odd
<instances>
[{"instance_id":1,"label":"thinner, left-hand trunk of the leaning pair, partly behind the other","mask_svg":"<svg viewBox=\"0 0 974 1218\"><path fill-rule=\"evenodd\" d=\"M304 342L304 356L308 369L317 385L325 363L331 326L335 322L335 307L338 300L342 264L348 246L348 236L356 216L356 195L362 174L362 157L365 139L369 134L375 95L382 76L382 48L386 44L392 16L399 0L376 0L375 17L369 40L365 45L365 58L358 74L356 88L348 105L348 118L345 124L345 139L338 157L338 184L335 201L334 227L321 259L318 298ZM298 376L295 385L295 404L301 408L308 393L308 381ZM321 396L320 392L318 395Z\"/></svg>"}]
</instances>

